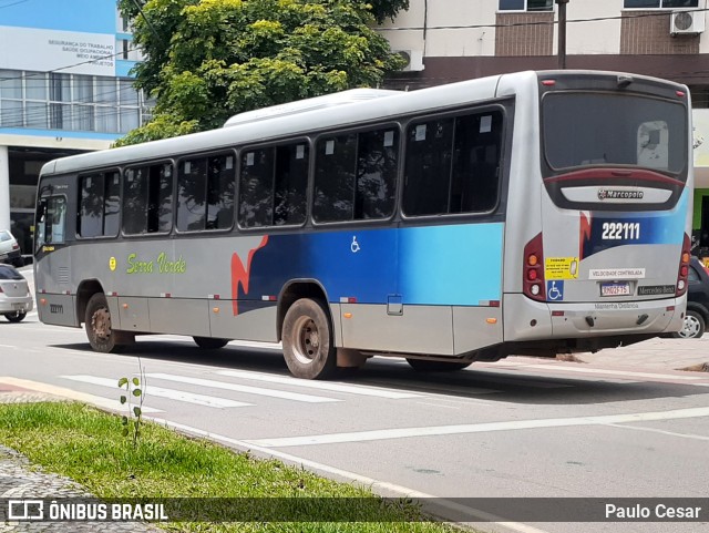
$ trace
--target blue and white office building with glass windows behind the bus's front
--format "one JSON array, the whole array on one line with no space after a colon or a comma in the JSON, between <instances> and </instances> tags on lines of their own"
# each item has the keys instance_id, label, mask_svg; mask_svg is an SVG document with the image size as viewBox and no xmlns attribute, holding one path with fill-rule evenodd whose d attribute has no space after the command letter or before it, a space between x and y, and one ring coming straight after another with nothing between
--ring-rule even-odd
<instances>
[{"instance_id":1,"label":"blue and white office building with glass windows behind the bus's front","mask_svg":"<svg viewBox=\"0 0 709 533\"><path fill-rule=\"evenodd\" d=\"M0 229L31 253L35 188L55 157L106 148L146 119L115 0L0 4Z\"/></svg>"}]
</instances>

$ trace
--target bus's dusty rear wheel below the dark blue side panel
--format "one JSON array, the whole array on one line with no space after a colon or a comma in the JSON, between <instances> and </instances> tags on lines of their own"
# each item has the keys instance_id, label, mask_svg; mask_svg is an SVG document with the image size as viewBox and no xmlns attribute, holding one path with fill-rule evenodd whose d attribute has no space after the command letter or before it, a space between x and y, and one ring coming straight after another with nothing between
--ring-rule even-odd
<instances>
[{"instance_id":1,"label":"bus's dusty rear wheel below the dark blue side panel","mask_svg":"<svg viewBox=\"0 0 709 533\"><path fill-rule=\"evenodd\" d=\"M326 307L301 298L286 312L282 328L284 357L296 378L326 379L337 368L337 350Z\"/></svg>"}]
</instances>

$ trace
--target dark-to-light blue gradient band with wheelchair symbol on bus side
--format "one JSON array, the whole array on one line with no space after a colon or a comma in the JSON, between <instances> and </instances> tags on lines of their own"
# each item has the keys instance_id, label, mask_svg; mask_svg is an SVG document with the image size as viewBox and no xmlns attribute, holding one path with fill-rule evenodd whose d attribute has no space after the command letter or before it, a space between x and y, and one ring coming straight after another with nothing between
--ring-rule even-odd
<instances>
[{"instance_id":1,"label":"dark-to-light blue gradient band with wheelchair symbol on bus side","mask_svg":"<svg viewBox=\"0 0 709 533\"><path fill-rule=\"evenodd\" d=\"M477 306L502 297L501 223L273 235L254 256L250 289L277 295L317 279L331 303ZM240 295L244 296L244 295Z\"/></svg>"}]
</instances>

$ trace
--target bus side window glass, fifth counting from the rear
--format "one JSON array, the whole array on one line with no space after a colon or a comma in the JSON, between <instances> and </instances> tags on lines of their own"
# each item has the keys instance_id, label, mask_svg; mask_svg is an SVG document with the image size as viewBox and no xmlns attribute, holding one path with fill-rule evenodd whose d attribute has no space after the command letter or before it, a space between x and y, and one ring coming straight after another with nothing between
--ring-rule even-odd
<instances>
[{"instance_id":1,"label":"bus side window glass, fifth counting from the rear","mask_svg":"<svg viewBox=\"0 0 709 533\"><path fill-rule=\"evenodd\" d=\"M123 180L123 233L142 235L172 228L172 165L156 164L125 171Z\"/></svg>"}]
</instances>

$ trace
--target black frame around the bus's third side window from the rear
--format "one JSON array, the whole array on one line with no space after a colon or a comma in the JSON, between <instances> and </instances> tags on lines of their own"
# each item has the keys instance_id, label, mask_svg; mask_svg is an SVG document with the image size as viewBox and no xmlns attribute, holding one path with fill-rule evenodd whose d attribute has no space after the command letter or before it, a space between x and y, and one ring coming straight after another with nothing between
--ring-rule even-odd
<instances>
[{"instance_id":1,"label":"black frame around the bus's third side window from the rear","mask_svg":"<svg viewBox=\"0 0 709 533\"><path fill-rule=\"evenodd\" d=\"M312 197L312 187L314 187L314 183L315 183L315 175L314 175L314 165L315 165L315 143L314 143L314 136L311 135L299 135L297 137L288 137L288 139L277 139L275 142L274 140L271 140L271 142L261 142L261 143L257 143L257 144L244 144L244 145L239 145L237 148L237 172L236 172L236 198L234 202L234 208L235 208L235 215L234 215L234 227L239 232L239 233L270 233L270 232L292 232L294 229L301 229L306 226L308 226L309 224L311 224L311 217L312 217L312 202L311 202L311 197ZM291 145L291 144L307 144L308 145L308 176L307 176L307 182L306 182L306 216L304 218L304 221L301 223L298 224L284 224L280 226L277 226L275 224L271 224L269 226L251 226L251 227L246 227L246 226L242 226L242 224L239 223L239 205L240 205L240 196L242 196L242 156L245 152L251 152L251 151L256 151L256 150L264 150L264 148L278 148L279 146L287 146L287 145Z\"/></svg>"}]
</instances>

